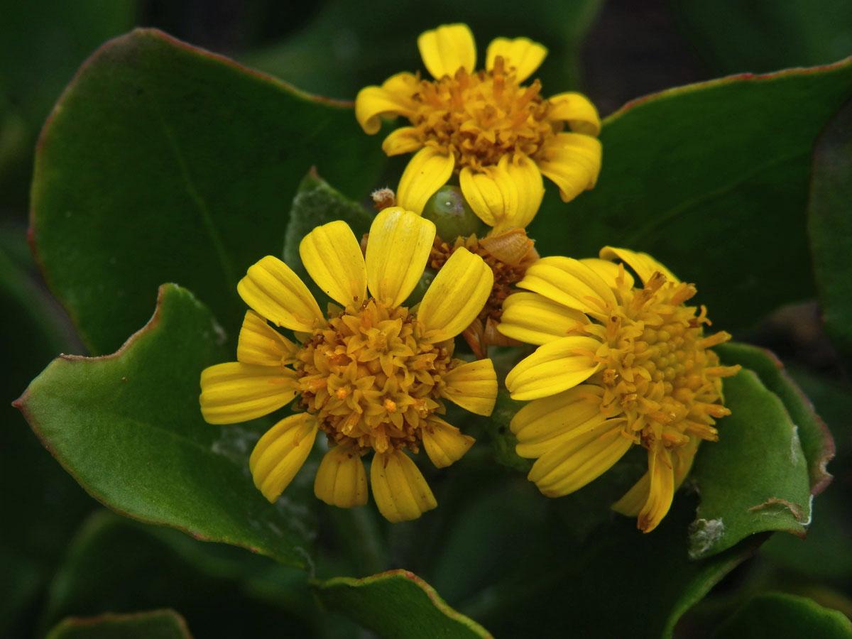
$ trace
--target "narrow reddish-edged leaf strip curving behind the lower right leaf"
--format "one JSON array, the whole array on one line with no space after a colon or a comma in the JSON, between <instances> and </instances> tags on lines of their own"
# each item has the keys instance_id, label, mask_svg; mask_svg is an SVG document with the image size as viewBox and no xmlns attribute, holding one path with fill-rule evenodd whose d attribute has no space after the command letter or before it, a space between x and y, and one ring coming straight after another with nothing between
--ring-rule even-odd
<instances>
[{"instance_id":1,"label":"narrow reddish-edged leaf strip curving behind the lower right leaf","mask_svg":"<svg viewBox=\"0 0 852 639\"><path fill-rule=\"evenodd\" d=\"M741 364L757 373L767 389L778 395L795 424L802 451L808 460L810 490L817 495L832 481L826 464L834 457L832 434L808 397L787 374L780 360L763 348L725 343L715 348L725 364Z\"/></svg>"}]
</instances>

